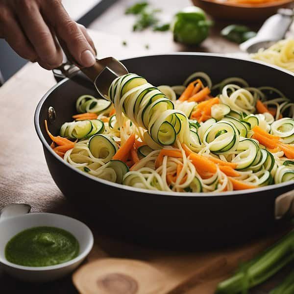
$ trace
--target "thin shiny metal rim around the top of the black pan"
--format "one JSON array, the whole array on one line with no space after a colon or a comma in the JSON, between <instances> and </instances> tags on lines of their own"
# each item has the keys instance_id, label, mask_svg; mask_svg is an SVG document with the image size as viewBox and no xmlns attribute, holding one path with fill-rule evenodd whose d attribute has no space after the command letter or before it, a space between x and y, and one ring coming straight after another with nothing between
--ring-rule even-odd
<instances>
[{"instance_id":1,"label":"thin shiny metal rim around the top of the black pan","mask_svg":"<svg viewBox=\"0 0 294 294\"><path fill-rule=\"evenodd\" d=\"M288 70L284 70L281 69L277 66L274 65L270 65L268 63L262 62L262 61L257 61L257 60L248 60L246 58L240 58L240 57L230 57L230 56L226 56L223 54L215 54L215 53L202 53L202 52L173 52L173 53L165 53L165 54L150 54L150 55L143 55L143 56L136 56L136 57L131 57L131 58L125 58L122 59L121 61L124 62L126 60L131 60L131 59L139 59L139 58L145 58L145 57L162 57L162 56L172 56L172 55L187 55L187 56L208 56L208 57L220 57L220 58L226 58L226 59L235 59L235 60L242 60L242 61L246 61L246 62L250 62L250 63L255 63L255 64L261 64L270 68L273 68L275 70L278 70L282 73L286 73L286 74L290 74L294 77L294 73L288 71ZM269 185L269 186L264 186L264 187L258 187L258 188L254 188L254 189L247 189L247 190L240 190L240 191L229 191L229 192L217 192L217 193L185 193L185 192L166 192L166 191L157 191L157 190L147 190L147 189L141 189L141 188L134 188L134 187L130 187L130 186L125 186L123 184L117 184L117 183L113 183L104 179L100 179L98 177L95 177L91 174L85 173L80 171L79 169L76 169L75 167L73 167L72 165L70 165L68 162L65 162L60 156L58 156L53 150L52 148L50 148L49 144L47 143L45 137L43 136L43 133L41 131L41 127L39 124L39 117L40 117L40 113L41 113L41 108L44 104L44 102L46 101L46 99L49 97L49 95L55 91L55 89L57 89L60 85L62 85L63 83L67 82L69 80L69 78L65 78L63 80L61 80L60 82L58 82L56 85L54 85L52 88L50 88L47 93L41 98L41 100L39 101L36 110L35 110L35 114L34 114L34 125L35 125L35 130L37 132L37 135L43 145L43 147L46 147L47 151L49 151L49 153L51 153L51 155L53 155L55 157L55 159L57 159L58 161L60 161L61 163L63 163L64 165L66 165L68 168L72 169L74 172L78 172L80 173L82 176L86 176L89 179L95 180L98 183L104 184L104 185L108 185L114 188L119 188L119 189L123 189L126 191L131 191L131 192L137 192L137 193L143 193L143 194L154 194L154 195L160 195L160 196L173 196L173 197L220 197L220 196L236 196L236 195L244 195L244 194L255 194L257 192L261 192L261 191L268 191L268 190L272 190L272 189L279 189L279 188L283 188L283 187L287 187L287 186L291 186L294 185L294 181L289 181L289 182L285 182L285 183L280 183L280 184L274 184L274 185Z\"/></svg>"}]
</instances>

